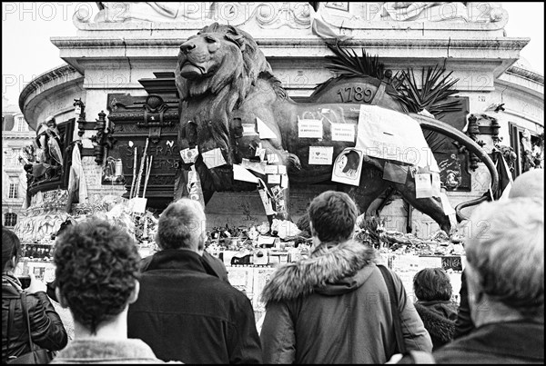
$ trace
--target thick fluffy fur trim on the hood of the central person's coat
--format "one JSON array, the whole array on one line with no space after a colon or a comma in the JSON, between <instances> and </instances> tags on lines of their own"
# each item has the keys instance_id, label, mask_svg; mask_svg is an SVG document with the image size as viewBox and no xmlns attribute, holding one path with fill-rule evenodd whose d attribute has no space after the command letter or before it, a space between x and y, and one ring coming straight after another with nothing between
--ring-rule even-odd
<instances>
[{"instance_id":1,"label":"thick fluffy fur trim on the hood of the central person's coat","mask_svg":"<svg viewBox=\"0 0 546 366\"><path fill-rule=\"evenodd\" d=\"M315 288L354 275L374 262L375 257L375 250L361 242L349 240L334 246L322 243L308 259L279 267L264 287L262 301L281 302L306 296Z\"/></svg>"}]
</instances>

